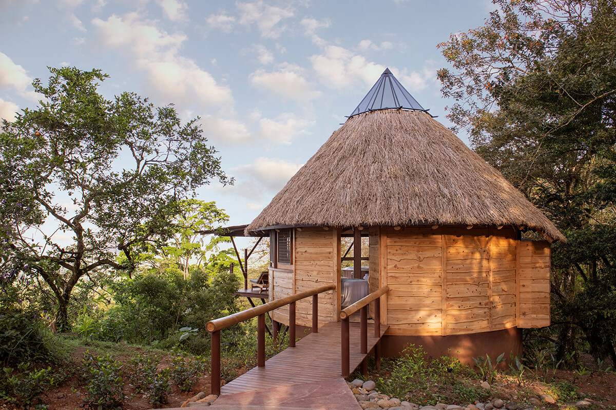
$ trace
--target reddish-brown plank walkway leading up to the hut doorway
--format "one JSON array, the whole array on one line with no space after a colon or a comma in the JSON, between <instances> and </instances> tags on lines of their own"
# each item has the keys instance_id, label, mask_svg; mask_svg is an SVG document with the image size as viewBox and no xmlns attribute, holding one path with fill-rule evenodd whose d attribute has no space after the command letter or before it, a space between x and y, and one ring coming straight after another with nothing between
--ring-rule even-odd
<instances>
[{"instance_id":1,"label":"reddish-brown plank walkway leading up to the hut doorway","mask_svg":"<svg viewBox=\"0 0 616 410\"><path fill-rule=\"evenodd\" d=\"M350 324L351 371L367 355L360 352L359 323ZM388 326L381 325L381 336ZM256 392L284 386L321 382L341 377L340 322L331 322L310 333L283 352L265 361L265 367L254 368L221 388L221 395ZM374 325L368 325L368 352L378 342Z\"/></svg>"}]
</instances>

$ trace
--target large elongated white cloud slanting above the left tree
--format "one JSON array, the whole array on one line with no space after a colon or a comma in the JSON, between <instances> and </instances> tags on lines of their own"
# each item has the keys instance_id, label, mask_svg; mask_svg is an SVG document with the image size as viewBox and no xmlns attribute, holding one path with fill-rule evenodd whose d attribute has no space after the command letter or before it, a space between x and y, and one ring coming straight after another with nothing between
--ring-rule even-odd
<instances>
[{"instance_id":1,"label":"large elongated white cloud slanting above the left tree","mask_svg":"<svg viewBox=\"0 0 616 410\"><path fill-rule=\"evenodd\" d=\"M144 71L148 87L165 102L232 107L228 87L217 84L194 60L179 55L187 39L183 33L169 34L154 22L140 20L136 13L113 15L107 21L95 18L92 25L97 28L98 41L132 58L136 68Z\"/></svg>"}]
</instances>

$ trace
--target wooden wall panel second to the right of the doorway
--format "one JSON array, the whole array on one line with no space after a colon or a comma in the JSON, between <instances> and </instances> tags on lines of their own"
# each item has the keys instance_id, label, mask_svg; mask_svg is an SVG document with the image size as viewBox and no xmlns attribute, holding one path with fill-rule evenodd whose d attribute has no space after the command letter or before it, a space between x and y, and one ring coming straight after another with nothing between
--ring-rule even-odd
<instances>
[{"instance_id":1,"label":"wooden wall panel second to the right of the doorway","mask_svg":"<svg viewBox=\"0 0 616 410\"><path fill-rule=\"evenodd\" d=\"M445 228L447 242L445 332L488 331L490 232L487 228Z\"/></svg>"}]
</instances>

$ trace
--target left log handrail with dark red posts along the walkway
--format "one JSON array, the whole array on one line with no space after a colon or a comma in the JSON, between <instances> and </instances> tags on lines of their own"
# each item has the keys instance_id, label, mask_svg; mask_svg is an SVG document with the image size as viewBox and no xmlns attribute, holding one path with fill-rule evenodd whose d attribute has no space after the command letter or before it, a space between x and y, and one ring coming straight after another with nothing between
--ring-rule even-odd
<instances>
[{"instance_id":1,"label":"left log handrail with dark red posts along the walkway","mask_svg":"<svg viewBox=\"0 0 616 410\"><path fill-rule=\"evenodd\" d=\"M336 285L320 286L319 288L303 291L300 293L286 296L261 306L253 307L252 309L243 310L242 312L234 313L233 315L221 317L215 320L210 320L206 323L205 328L212 334L212 373L211 373L211 390L215 395L221 394L221 330L229 326L237 325L240 321L245 321L254 317L257 319L257 366L265 366L265 313L270 312L279 307L289 305L289 347L295 347L295 302L312 296L312 332L318 332L318 294L328 290L335 290ZM273 323L272 323L273 325ZM274 341L277 337L277 327L272 326Z\"/></svg>"}]
</instances>

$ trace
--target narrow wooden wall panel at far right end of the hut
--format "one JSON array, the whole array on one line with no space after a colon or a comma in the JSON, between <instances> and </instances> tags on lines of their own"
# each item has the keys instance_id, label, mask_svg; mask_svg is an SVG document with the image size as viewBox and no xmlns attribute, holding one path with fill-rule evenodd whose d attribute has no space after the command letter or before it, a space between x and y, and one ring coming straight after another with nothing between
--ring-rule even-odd
<instances>
[{"instance_id":1,"label":"narrow wooden wall panel at far right end of the hut","mask_svg":"<svg viewBox=\"0 0 616 410\"><path fill-rule=\"evenodd\" d=\"M520 328L549 326L550 248L547 241L519 242Z\"/></svg>"}]
</instances>

